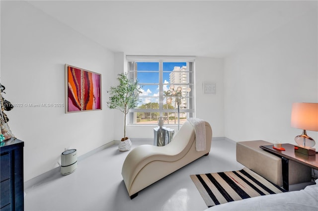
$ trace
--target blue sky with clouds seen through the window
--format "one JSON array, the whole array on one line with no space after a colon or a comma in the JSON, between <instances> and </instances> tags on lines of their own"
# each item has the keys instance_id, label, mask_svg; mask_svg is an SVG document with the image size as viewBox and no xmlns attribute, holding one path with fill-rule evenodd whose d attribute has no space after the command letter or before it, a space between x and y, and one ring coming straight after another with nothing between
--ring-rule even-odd
<instances>
[{"instance_id":1,"label":"blue sky with clouds seen through the window","mask_svg":"<svg viewBox=\"0 0 318 211\"><path fill-rule=\"evenodd\" d=\"M175 66L182 67L186 66L186 62L163 62L163 82L167 85L163 86L163 91L169 89L169 73L172 72ZM139 83L159 83L159 62L137 62L137 71L150 71L150 72L139 72L137 77ZM164 72L166 71L166 72ZM144 85L142 88L141 98L144 103L159 102L159 99L147 98L147 97L158 97L159 86L158 85Z\"/></svg>"}]
</instances>

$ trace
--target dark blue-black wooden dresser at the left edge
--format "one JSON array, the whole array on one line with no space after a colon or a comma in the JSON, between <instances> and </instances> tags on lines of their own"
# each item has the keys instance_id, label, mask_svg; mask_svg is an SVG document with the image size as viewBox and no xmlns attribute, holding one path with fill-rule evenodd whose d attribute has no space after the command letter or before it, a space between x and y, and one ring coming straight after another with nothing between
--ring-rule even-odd
<instances>
[{"instance_id":1,"label":"dark blue-black wooden dresser at the left edge","mask_svg":"<svg viewBox=\"0 0 318 211\"><path fill-rule=\"evenodd\" d=\"M0 143L0 211L23 211L23 146L10 138Z\"/></svg>"}]
</instances>

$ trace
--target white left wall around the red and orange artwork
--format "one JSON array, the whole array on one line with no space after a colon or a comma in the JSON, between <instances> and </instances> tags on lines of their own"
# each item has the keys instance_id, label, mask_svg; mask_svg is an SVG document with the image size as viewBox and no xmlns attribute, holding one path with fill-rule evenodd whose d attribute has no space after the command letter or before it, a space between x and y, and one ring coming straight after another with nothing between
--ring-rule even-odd
<instances>
[{"instance_id":1,"label":"white left wall around the red and orange artwork","mask_svg":"<svg viewBox=\"0 0 318 211\"><path fill-rule=\"evenodd\" d=\"M102 74L102 110L65 113L64 64ZM24 143L24 181L57 167L65 148L78 156L114 139L114 112L106 87L114 54L25 1L1 1L1 84L5 98L22 104L7 111L12 132ZM107 160L105 160L107 162Z\"/></svg>"}]
</instances>

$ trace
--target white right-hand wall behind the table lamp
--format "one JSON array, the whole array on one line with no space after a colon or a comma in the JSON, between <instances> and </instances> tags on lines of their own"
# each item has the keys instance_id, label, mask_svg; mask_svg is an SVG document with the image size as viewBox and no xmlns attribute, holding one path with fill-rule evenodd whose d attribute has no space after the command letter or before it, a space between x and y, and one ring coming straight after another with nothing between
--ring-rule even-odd
<instances>
[{"instance_id":1,"label":"white right-hand wall behind the table lamp","mask_svg":"<svg viewBox=\"0 0 318 211\"><path fill-rule=\"evenodd\" d=\"M317 19L314 8L225 59L226 137L295 144L292 103L318 103Z\"/></svg>"}]
</instances>

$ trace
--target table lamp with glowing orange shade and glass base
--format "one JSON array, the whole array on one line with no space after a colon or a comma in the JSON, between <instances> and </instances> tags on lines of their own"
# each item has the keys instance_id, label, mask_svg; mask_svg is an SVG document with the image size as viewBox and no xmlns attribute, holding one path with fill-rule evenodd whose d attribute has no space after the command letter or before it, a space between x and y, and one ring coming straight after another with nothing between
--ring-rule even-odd
<instances>
[{"instance_id":1,"label":"table lamp with glowing orange shade and glass base","mask_svg":"<svg viewBox=\"0 0 318 211\"><path fill-rule=\"evenodd\" d=\"M309 137L306 130L318 131L318 103L293 103L291 126L303 130L302 135L295 137L295 142L299 145L300 152L305 155L316 153L315 140Z\"/></svg>"}]
</instances>

